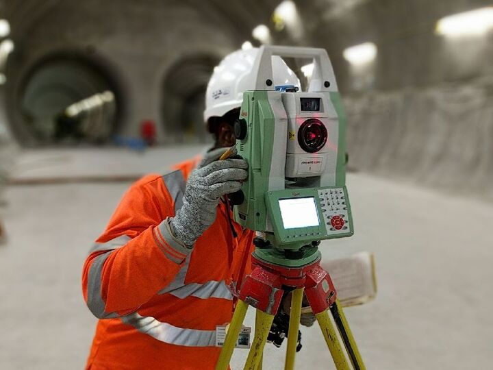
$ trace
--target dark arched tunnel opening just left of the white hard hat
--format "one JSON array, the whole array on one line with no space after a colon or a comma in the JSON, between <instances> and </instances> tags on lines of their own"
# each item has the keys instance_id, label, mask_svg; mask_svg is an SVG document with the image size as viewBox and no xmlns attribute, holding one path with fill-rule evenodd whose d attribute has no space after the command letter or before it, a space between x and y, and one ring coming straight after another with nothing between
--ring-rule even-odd
<instances>
[{"instance_id":1,"label":"dark arched tunnel opening just left of the white hard hat","mask_svg":"<svg viewBox=\"0 0 493 370\"><path fill-rule=\"evenodd\" d=\"M203 111L207 82L218 61L214 56L195 55L181 58L168 68L161 104L166 141L208 143L212 140L203 121Z\"/></svg>"}]
</instances>

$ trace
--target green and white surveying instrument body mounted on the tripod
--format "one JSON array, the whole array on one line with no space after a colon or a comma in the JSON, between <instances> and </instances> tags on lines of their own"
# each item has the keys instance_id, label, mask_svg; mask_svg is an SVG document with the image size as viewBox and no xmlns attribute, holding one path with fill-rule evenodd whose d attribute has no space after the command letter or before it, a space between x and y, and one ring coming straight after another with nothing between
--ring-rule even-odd
<instances>
[{"instance_id":1,"label":"green and white surveying instrument body mounted on the tripod","mask_svg":"<svg viewBox=\"0 0 493 370\"><path fill-rule=\"evenodd\" d=\"M321 56L318 62L321 70L331 76L333 72L325 51L316 52ZM261 67L259 71L262 71ZM249 163L249 177L242 185L244 201L234 206L234 219L243 227L260 232L267 242L266 247L257 245L255 248L257 258L285 266L302 266L320 258L319 240L353 235L346 189L346 116L337 86L313 85L308 92L296 93L277 91L274 86L262 90L260 82L262 78L258 77L257 89L244 92L240 108L239 119L244 120L240 127L246 127L246 130L244 137L236 141L236 149ZM299 102L299 97L305 96L320 99L323 110L305 112L296 108L294 111L292 107ZM320 153L292 151L296 133L289 132L288 127L296 129L293 122L299 125L298 119L309 119L310 114L327 125L330 146ZM306 180L303 186L290 184L285 176L288 173L286 158L289 145L290 166L301 165L301 162L296 162L296 156L325 156L323 173L301 175L300 178ZM290 171L294 171L294 167L290 167ZM313 197L318 225L285 227L279 201L302 197Z\"/></svg>"}]
</instances>

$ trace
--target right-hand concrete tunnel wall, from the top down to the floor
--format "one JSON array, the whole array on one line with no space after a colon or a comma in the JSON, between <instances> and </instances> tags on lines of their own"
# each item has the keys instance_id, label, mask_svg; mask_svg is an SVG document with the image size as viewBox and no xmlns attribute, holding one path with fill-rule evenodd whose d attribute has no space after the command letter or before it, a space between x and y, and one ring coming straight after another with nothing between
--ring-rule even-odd
<instances>
[{"instance_id":1,"label":"right-hand concrete tunnel wall, from the top down to the floor","mask_svg":"<svg viewBox=\"0 0 493 370\"><path fill-rule=\"evenodd\" d=\"M464 38L434 32L443 16L488 5L349 1L342 14L342 5L320 8L325 23L311 36L329 25L321 43L336 56L351 167L493 199L493 32ZM377 58L357 71L342 49L366 41L377 45Z\"/></svg>"}]
</instances>

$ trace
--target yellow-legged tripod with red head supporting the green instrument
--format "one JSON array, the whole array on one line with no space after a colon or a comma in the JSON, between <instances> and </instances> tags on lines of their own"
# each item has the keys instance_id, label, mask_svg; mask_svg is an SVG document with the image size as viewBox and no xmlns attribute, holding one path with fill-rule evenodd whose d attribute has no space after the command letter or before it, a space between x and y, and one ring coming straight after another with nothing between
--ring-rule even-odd
<instances>
[{"instance_id":1,"label":"yellow-legged tripod with red head supporting the green instrument","mask_svg":"<svg viewBox=\"0 0 493 370\"><path fill-rule=\"evenodd\" d=\"M255 336L244 369L262 369L262 354L270 326L281 304L283 293L292 289L294 291L292 292L284 369L294 369L303 293L305 293L309 306L312 307L318 325L322 330L336 369L349 370L351 368L346 360L327 309L331 311L333 321L336 323L353 369L365 369L353 334L337 299L336 289L333 286L331 277L327 271L320 267L319 262L320 257L302 267L288 267L270 263L260 258L260 256L256 256L255 252L253 253L253 271L245 277L240 288L238 303L218 358L216 370L228 369L249 305L255 307L257 312L255 316Z\"/></svg>"}]
</instances>

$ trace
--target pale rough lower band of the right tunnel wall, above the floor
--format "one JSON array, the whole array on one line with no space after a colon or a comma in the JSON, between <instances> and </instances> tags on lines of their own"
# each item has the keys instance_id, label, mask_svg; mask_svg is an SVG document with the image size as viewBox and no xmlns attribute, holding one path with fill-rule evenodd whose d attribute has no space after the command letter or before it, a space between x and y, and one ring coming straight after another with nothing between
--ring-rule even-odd
<instances>
[{"instance_id":1,"label":"pale rough lower band of the right tunnel wall, above the floor","mask_svg":"<svg viewBox=\"0 0 493 370\"><path fill-rule=\"evenodd\" d=\"M344 103L351 167L493 200L493 77Z\"/></svg>"}]
</instances>

